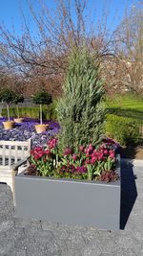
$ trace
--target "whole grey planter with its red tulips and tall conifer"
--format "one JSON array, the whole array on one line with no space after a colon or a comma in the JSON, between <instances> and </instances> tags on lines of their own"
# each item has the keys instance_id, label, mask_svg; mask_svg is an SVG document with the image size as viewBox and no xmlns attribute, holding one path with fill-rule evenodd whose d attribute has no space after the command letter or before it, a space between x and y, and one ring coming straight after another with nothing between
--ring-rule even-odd
<instances>
[{"instance_id":1,"label":"whole grey planter with its red tulips and tall conifer","mask_svg":"<svg viewBox=\"0 0 143 256\"><path fill-rule=\"evenodd\" d=\"M15 177L18 217L119 229L119 160L114 144L102 144L104 89L94 61L87 49L72 52L57 106L58 141L33 149L28 174Z\"/></svg>"}]
</instances>

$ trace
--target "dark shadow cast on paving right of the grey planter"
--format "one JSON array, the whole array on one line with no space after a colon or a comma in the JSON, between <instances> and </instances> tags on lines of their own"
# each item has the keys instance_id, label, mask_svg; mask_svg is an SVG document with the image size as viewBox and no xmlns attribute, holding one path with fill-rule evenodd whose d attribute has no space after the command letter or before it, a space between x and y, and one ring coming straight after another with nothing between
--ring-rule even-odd
<instances>
[{"instance_id":1,"label":"dark shadow cast on paving right of the grey planter","mask_svg":"<svg viewBox=\"0 0 143 256\"><path fill-rule=\"evenodd\" d=\"M121 164L121 214L120 229L124 229L137 198L135 185L136 176L133 175L133 164Z\"/></svg>"}]
</instances>

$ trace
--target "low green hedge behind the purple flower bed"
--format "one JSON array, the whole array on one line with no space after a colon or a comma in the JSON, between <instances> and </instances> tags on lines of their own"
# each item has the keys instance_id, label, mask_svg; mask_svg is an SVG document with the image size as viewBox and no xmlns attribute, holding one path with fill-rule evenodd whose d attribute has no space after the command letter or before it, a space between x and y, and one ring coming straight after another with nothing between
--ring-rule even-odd
<instances>
[{"instance_id":1,"label":"low green hedge behind the purple flower bed","mask_svg":"<svg viewBox=\"0 0 143 256\"><path fill-rule=\"evenodd\" d=\"M56 103L52 103L49 106L43 106L43 120L56 120L57 115L55 111ZM2 116L7 116L7 109L2 109ZM39 119L39 106L25 106L19 107L20 117L30 117ZM10 107L10 117L17 117L16 107Z\"/></svg>"}]
</instances>

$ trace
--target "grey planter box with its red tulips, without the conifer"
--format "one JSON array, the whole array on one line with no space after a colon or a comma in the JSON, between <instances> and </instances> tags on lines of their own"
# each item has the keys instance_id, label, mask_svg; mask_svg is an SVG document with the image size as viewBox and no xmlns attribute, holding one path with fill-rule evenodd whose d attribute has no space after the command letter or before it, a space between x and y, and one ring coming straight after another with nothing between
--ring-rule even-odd
<instances>
[{"instance_id":1,"label":"grey planter box with its red tulips, without the conifer","mask_svg":"<svg viewBox=\"0 0 143 256\"><path fill-rule=\"evenodd\" d=\"M120 228L120 167L112 145L60 154L53 138L31 151L30 163L15 176L17 217Z\"/></svg>"}]
</instances>

